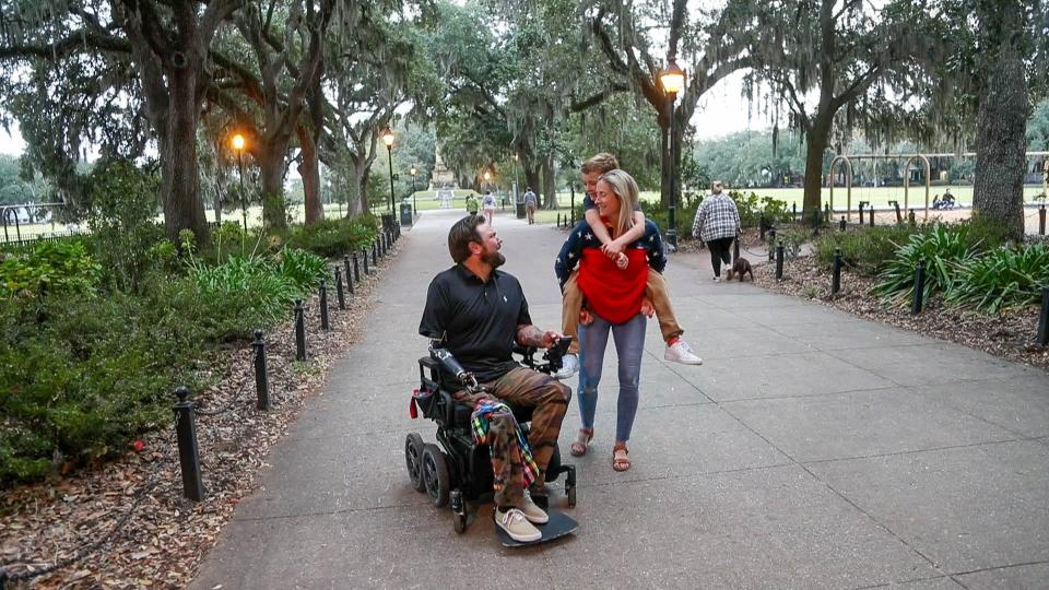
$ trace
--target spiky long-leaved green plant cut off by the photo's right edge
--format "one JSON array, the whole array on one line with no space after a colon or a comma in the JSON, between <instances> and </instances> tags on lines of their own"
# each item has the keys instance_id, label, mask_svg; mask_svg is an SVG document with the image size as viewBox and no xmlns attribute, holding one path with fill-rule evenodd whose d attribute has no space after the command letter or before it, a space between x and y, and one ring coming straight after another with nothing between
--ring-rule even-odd
<instances>
[{"instance_id":1,"label":"spiky long-leaved green plant cut off by the photo's right edge","mask_svg":"<svg viewBox=\"0 0 1049 590\"><path fill-rule=\"evenodd\" d=\"M1049 247L1045 244L1003 247L962 267L945 299L994 314L1038 304L1046 287L1049 287Z\"/></svg>"}]
</instances>

